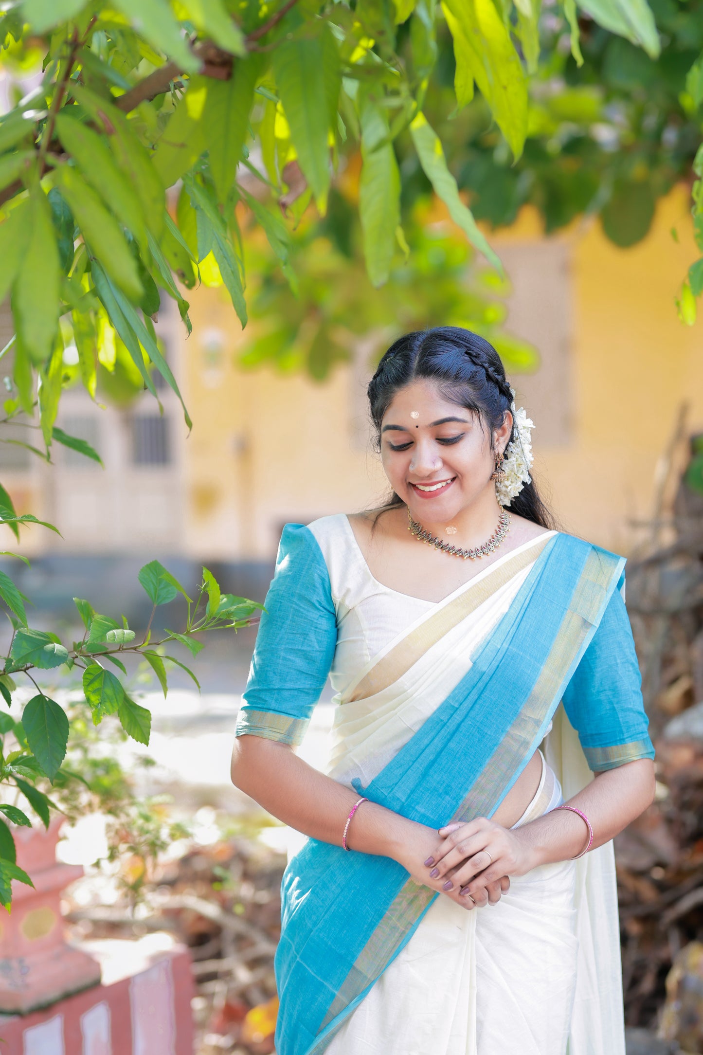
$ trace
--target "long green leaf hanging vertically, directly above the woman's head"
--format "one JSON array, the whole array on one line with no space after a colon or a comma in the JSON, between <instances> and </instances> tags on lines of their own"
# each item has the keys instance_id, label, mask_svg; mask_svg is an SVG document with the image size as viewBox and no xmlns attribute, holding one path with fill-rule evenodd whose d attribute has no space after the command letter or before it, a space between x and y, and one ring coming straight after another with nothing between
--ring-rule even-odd
<instances>
[{"instance_id":1,"label":"long green leaf hanging vertically, directly above the woman's head","mask_svg":"<svg viewBox=\"0 0 703 1055\"><path fill-rule=\"evenodd\" d=\"M401 174L388 141L386 111L365 101L362 107L362 176L358 207L364 232L366 269L373 286L388 280L401 223Z\"/></svg>"}]
</instances>

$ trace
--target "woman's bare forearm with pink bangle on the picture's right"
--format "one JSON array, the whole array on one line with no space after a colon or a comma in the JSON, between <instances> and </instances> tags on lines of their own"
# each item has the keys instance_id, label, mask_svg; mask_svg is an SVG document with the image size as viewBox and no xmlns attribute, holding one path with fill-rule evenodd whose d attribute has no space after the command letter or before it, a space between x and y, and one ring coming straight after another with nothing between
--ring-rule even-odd
<instances>
[{"instance_id":1,"label":"woman's bare forearm with pink bangle on the picture's right","mask_svg":"<svg viewBox=\"0 0 703 1055\"><path fill-rule=\"evenodd\" d=\"M655 797L655 766L649 759L628 762L599 773L567 800L586 814L593 828L592 847L602 846L644 812ZM571 810L545 813L515 830L533 859L531 867L575 857L588 843L585 822Z\"/></svg>"}]
</instances>

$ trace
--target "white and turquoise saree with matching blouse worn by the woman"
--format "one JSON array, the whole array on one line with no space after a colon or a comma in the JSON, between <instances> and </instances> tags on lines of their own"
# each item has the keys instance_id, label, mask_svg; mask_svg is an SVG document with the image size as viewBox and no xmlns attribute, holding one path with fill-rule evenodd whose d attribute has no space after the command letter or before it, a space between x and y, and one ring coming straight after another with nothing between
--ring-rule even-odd
<instances>
[{"instance_id":1,"label":"white and turquoise saree with matching blouse worn by the woman","mask_svg":"<svg viewBox=\"0 0 703 1055\"><path fill-rule=\"evenodd\" d=\"M377 582L346 516L284 530L237 735L299 744L328 674L330 775L432 827L519 823L652 757L624 559L548 532L438 603ZM610 843L466 912L396 862L308 840L282 883L278 1055L624 1055Z\"/></svg>"}]
</instances>

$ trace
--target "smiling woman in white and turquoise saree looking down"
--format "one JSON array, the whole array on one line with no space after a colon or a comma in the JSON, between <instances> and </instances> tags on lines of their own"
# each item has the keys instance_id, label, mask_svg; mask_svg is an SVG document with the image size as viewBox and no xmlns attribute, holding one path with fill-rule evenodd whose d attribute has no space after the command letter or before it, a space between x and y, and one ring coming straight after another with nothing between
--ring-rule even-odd
<instances>
[{"instance_id":1,"label":"smiling woman in white and turquoise saree looking down","mask_svg":"<svg viewBox=\"0 0 703 1055\"><path fill-rule=\"evenodd\" d=\"M623 1055L611 840L655 784L624 560L551 530L482 338L401 338L369 400L393 497L285 529L237 723L234 783L310 837L276 1051ZM324 775L293 747L328 674Z\"/></svg>"}]
</instances>

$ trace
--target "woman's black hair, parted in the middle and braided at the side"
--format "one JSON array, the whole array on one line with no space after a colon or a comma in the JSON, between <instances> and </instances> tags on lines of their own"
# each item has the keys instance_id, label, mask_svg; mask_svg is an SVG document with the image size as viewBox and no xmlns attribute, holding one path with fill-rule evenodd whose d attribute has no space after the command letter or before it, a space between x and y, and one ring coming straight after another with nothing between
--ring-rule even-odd
<instances>
[{"instance_id":1,"label":"woman's black hair, parted in the middle and braided at the side","mask_svg":"<svg viewBox=\"0 0 703 1055\"><path fill-rule=\"evenodd\" d=\"M395 394L412 381L427 380L437 385L443 397L477 415L488 431L491 449L493 431L510 409L512 394L495 348L484 338L460 326L406 333L398 338L378 363L368 388L371 419L380 447L380 424ZM515 427L510 439L515 437ZM405 503L396 494L378 511ZM510 510L542 528L551 529L553 517L532 483L526 483Z\"/></svg>"}]
</instances>

